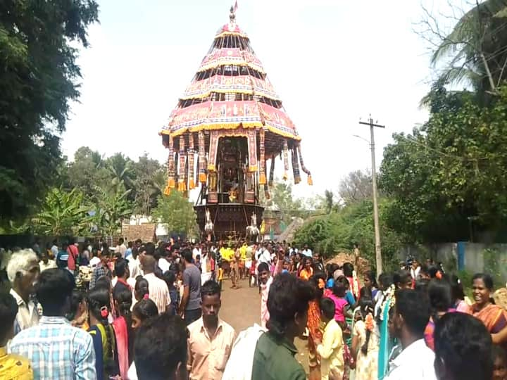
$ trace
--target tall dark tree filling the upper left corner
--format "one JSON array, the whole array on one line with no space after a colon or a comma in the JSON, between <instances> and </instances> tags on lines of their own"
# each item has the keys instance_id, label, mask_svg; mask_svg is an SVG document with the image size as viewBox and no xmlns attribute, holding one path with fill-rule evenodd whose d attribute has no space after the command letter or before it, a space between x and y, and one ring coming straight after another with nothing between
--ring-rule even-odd
<instances>
[{"instance_id":1,"label":"tall dark tree filling the upper left corner","mask_svg":"<svg viewBox=\"0 0 507 380\"><path fill-rule=\"evenodd\" d=\"M0 222L25 217L54 186L79 96L77 43L88 46L97 14L93 0L0 2Z\"/></svg>"}]
</instances>

